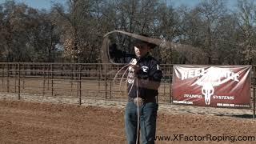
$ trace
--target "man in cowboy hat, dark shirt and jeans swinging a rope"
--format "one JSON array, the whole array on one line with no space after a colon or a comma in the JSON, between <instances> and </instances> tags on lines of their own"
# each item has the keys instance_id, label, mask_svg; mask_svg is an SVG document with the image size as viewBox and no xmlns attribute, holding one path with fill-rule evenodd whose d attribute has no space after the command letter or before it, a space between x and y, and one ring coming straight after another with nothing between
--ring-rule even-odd
<instances>
[{"instance_id":1,"label":"man in cowboy hat, dark shirt and jeans swinging a rope","mask_svg":"<svg viewBox=\"0 0 256 144\"><path fill-rule=\"evenodd\" d=\"M162 78L158 61L150 56L150 49L154 46L137 40L134 42L134 56L122 53L123 62L130 62L127 80L129 94L125 112L126 139L129 144L138 143L138 126L142 143L154 143L158 87Z\"/></svg>"}]
</instances>

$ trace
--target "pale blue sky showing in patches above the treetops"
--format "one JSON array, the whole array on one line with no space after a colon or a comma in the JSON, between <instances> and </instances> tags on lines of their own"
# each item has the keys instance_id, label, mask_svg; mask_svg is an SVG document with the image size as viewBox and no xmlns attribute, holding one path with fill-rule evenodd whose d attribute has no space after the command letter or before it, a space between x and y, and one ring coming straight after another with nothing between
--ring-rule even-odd
<instances>
[{"instance_id":1,"label":"pale blue sky showing in patches above the treetops","mask_svg":"<svg viewBox=\"0 0 256 144\"><path fill-rule=\"evenodd\" d=\"M0 0L0 4L2 4L3 2L5 2L6 0ZM7 0L8 1L8 0ZM36 9L46 9L49 10L50 6L52 5L52 3L65 3L66 0L14 0L15 2L24 2L26 3L26 5L34 7ZM171 2L172 4L174 4L174 7L178 7L181 5L187 5L187 6L196 6L199 2L201 2L203 0L166 0L167 3ZM235 5L235 0L226 0L227 2L227 6L229 8L234 7Z\"/></svg>"}]
</instances>

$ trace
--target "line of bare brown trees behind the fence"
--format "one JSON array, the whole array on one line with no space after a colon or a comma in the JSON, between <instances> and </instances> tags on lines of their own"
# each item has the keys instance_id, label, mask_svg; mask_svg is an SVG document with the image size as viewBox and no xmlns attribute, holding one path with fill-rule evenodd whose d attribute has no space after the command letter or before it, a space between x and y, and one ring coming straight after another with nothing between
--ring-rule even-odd
<instances>
[{"instance_id":1,"label":"line of bare brown trees behind the fence","mask_svg":"<svg viewBox=\"0 0 256 144\"><path fill-rule=\"evenodd\" d=\"M6 1L0 5L0 61L99 62L102 36L124 30L186 45L154 49L162 63L254 64L256 4L238 0L232 13L225 2L174 8L162 0L68 0L36 10ZM110 38L133 51L134 39L124 34Z\"/></svg>"}]
</instances>

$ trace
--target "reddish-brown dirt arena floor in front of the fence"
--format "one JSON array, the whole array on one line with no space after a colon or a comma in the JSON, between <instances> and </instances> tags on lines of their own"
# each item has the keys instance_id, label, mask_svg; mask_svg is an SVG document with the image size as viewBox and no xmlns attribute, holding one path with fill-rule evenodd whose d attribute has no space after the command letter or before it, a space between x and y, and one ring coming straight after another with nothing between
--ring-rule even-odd
<instances>
[{"instance_id":1,"label":"reddish-brown dirt arena floor in front of the fence","mask_svg":"<svg viewBox=\"0 0 256 144\"><path fill-rule=\"evenodd\" d=\"M200 143L217 143L214 136L245 136L243 143L249 143L247 136L256 136L256 121L251 118L159 112L157 123L158 138L170 136L175 143L199 142L175 139L178 134L177 138L213 136ZM0 143L126 143L124 109L1 99Z\"/></svg>"}]
</instances>

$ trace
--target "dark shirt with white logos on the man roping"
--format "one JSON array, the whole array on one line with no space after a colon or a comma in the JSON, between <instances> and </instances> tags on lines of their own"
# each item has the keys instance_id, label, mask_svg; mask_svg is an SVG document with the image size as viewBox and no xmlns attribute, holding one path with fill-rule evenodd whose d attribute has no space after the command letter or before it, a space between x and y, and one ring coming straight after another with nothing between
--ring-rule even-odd
<instances>
[{"instance_id":1,"label":"dark shirt with white logos on the man roping","mask_svg":"<svg viewBox=\"0 0 256 144\"><path fill-rule=\"evenodd\" d=\"M112 51L113 52L113 51ZM114 59L118 58L118 62L122 63L130 63L133 58L136 58L134 54L126 54L124 52L115 51L116 54L112 54L112 56L117 56ZM113 57L112 57L113 58ZM130 98L138 97L147 99L153 98L158 95L158 87L160 86L161 78L162 78L162 70L160 70L159 62L150 56L150 54L146 54L143 58L136 58L137 65L140 67L140 70L136 74L134 74L134 83L132 82L132 78L130 78L130 82L128 79L128 92ZM132 72L129 72L132 75ZM129 76L128 74L128 76ZM136 86L138 78L138 87Z\"/></svg>"}]
</instances>

